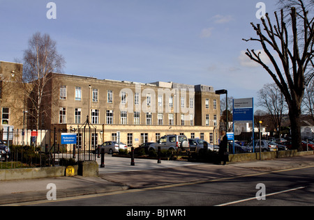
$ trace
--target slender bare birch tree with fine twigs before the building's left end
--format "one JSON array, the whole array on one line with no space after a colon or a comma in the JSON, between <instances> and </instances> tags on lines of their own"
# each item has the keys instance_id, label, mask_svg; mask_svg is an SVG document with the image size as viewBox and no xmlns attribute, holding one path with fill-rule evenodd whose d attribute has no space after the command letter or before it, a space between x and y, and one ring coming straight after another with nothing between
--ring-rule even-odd
<instances>
[{"instance_id":1,"label":"slender bare birch tree with fine twigs before the building's left end","mask_svg":"<svg viewBox=\"0 0 314 220\"><path fill-rule=\"evenodd\" d=\"M39 129L40 115L45 113L43 100L52 94L51 72L59 72L65 64L63 56L57 52L57 43L48 34L35 33L29 39L29 48L24 50L24 81L29 99L29 116Z\"/></svg>"}]
</instances>

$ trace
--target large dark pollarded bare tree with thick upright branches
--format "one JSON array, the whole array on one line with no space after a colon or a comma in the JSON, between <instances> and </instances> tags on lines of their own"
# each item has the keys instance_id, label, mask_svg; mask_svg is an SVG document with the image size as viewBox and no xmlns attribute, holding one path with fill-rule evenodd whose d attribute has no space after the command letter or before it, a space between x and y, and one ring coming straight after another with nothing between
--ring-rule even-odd
<instances>
[{"instance_id":1,"label":"large dark pollarded bare tree with thick upright branches","mask_svg":"<svg viewBox=\"0 0 314 220\"><path fill-rule=\"evenodd\" d=\"M308 1L310 1L309 5L313 6L313 0ZM289 108L292 148L302 150L301 102L306 82L310 81L314 75L312 61L314 56L314 18L309 16L304 1L285 0L283 2L289 3L286 4L290 8L289 15L285 13L286 10L283 6L280 16L275 13L276 24L273 26L269 15L266 14L261 19L262 26L251 23L258 38L244 40L260 42L269 57L272 67L262 61L261 53L255 52L254 49L251 51L248 49L246 52L251 60L262 65L271 75L285 96Z\"/></svg>"}]
</instances>

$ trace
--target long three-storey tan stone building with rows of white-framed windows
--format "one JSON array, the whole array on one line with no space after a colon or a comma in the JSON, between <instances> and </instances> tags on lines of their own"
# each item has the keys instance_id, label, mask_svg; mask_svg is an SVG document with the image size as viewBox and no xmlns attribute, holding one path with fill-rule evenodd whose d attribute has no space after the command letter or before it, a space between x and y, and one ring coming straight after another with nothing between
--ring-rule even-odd
<instances>
[{"instance_id":1,"label":"long three-storey tan stone building with rows of white-framed windows","mask_svg":"<svg viewBox=\"0 0 314 220\"><path fill-rule=\"evenodd\" d=\"M45 96L45 111L38 118L41 129L77 131L88 118L96 127L96 144L117 140L119 134L121 142L135 147L165 134L217 143L220 97L211 86L52 73L46 90L51 93ZM27 118L30 126L32 120Z\"/></svg>"}]
</instances>

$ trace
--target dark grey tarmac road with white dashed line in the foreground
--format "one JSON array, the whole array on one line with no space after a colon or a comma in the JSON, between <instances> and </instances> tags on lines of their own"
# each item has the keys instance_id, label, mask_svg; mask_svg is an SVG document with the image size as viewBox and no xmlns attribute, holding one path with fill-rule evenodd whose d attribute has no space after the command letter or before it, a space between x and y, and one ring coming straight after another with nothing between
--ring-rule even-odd
<instances>
[{"instance_id":1,"label":"dark grey tarmac road with white dashed line in the foreground","mask_svg":"<svg viewBox=\"0 0 314 220\"><path fill-rule=\"evenodd\" d=\"M207 180L207 182L130 189L107 194L65 198L52 202L38 201L20 205L124 206L124 212L131 211L132 207L139 206L305 206L314 205L313 173L314 167L292 168L285 171L258 173L242 178L223 178L211 182ZM257 184L262 184L265 188L257 188ZM265 200L258 201L256 196L265 196Z\"/></svg>"}]
</instances>

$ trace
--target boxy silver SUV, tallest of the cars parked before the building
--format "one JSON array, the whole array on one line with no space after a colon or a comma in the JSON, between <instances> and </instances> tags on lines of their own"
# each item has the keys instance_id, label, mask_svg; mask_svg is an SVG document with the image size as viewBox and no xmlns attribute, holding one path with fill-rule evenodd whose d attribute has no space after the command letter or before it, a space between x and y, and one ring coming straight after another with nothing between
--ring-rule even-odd
<instances>
[{"instance_id":1,"label":"boxy silver SUV, tallest of the cars parked before the building","mask_svg":"<svg viewBox=\"0 0 314 220\"><path fill-rule=\"evenodd\" d=\"M185 135L169 134L162 136L157 143L149 146L149 150L178 150L178 148L188 148L188 138Z\"/></svg>"}]
</instances>

